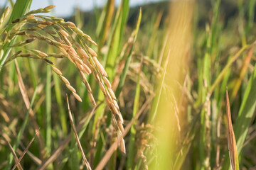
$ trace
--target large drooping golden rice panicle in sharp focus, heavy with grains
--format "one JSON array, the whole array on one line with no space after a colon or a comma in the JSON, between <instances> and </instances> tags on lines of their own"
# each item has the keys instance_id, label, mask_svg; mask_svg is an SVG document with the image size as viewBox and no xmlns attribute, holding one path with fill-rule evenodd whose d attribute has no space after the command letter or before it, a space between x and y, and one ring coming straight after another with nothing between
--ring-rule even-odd
<instances>
[{"instance_id":1,"label":"large drooping golden rice panicle in sharp focus, heavy with grains","mask_svg":"<svg viewBox=\"0 0 256 170\"><path fill-rule=\"evenodd\" d=\"M77 67L78 71L80 72L82 82L85 84L85 86L87 86L90 101L93 105L96 105L95 99L92 96L92 89L90 88L90 84L88 83L84 75L93 73L102 93L105 96L107 105L110 108L110 111L112 111L112 119L113 123L115 124L114 126L117 127L117 134L122 134L123 119L119 111L118 105L114 104L114 100L116 100L117 98L115 97L114 92L111 89L110 81L108 81L107 79L107 72L105 71L104 67L102 67L102 64L100 64L100 62L97 60L97 53L92 50L92 48L88 47L88 45L83 42L83 39L94 45L97 44L93 40L91 40L90 36L83 33L82 30L80 30L79 28L76 28L74 23L65 22L62 18L37 15L37 13L48 13L53 7L54 6L48 6L46 8L40 8L30 11L26 13L25 16L16 18L14 21L11 22L11 25L6 26L6 28L12 26L8 33L9 36L7 36L6 38L7 41L14 39L17 35L28 37L28 40L25 40L24 42L17 42L10 47L21 48L23 51L26 50L28 53L22 53L21 50L18 53L12 55L11 57L7 57L7 62L11 62L17 57L31 56L45 60L46 63L50 65L50 68L53 70L53 72L55 72L55 74L58 74L58 77L60 77L60 79L64 82L65 86L73 93L73 96L75 96L78 101L82 101L82 98L80 98L73 86L70 85L68 79L65 79L65 77L63 77L60 69L55 67L53 62L50 62L50 60L46 59L46 57L49 56L59 58L60 55L63 58L68 58L68 60L70 60L70 62L73 62L75 67ZM29 28L27 26L28 24ZM55 35L55 33L58 36ZM75 38L73 34L75 34ZM54 53L46 54L41 50L29 50L23 48L24 45L28 45L28 43L34 40L43 41L51 47L54 47L56 50L60 50L60 55ZM3 46L4 43L4 41L0 41L0 44L2 44ZM124 141L120 146L122 146L123 148L122 152L125 152Z\"/></svg>"}]
</instances>

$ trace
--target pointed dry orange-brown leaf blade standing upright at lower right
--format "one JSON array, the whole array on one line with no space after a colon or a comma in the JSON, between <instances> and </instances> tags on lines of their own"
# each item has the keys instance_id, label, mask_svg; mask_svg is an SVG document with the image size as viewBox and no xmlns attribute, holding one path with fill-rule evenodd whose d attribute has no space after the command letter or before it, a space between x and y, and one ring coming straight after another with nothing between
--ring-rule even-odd
<instances>
[{"instance_id":1,"label":"pointed dry orange-brown leaf blade standing upright at lower right","mask_svg":"<svg viewBox=\"0 0 256 170\"><path fill-rule=\"evenodd\" d=\"M231 113L230 113L230 103L228 98L228 88L226 89L226 112L228 119L228 150L230 156L230 164L233 170L239 170L239 160L238 160L238 149L235 142L235 134L233 131Z\"/></svg>"}]
</instances>

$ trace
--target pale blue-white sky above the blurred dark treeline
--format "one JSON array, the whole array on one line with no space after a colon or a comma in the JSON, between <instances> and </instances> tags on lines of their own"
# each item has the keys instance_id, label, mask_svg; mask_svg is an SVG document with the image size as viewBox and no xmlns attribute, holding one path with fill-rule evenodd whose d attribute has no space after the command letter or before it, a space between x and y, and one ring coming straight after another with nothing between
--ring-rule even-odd
<instances>
[{"instance_id":1,"label":"pale blue-white sky above the blurred dark treeline","mask_svg":"<svg viewBox=\"0 0 256 170\"><path fill-rule=\"evenodd\" d=\"M0 6L4 6L7 0L0 0ZM90 11L94 6L104 6L107 0L33 0L31 10L55 5L55 14L59 17L67 17L73 13L75 6L82 11ZM121 0L116 0L118 5ZM130 6L139 6L159 0L129 0Z\"/></svg>"}]
</instances>

